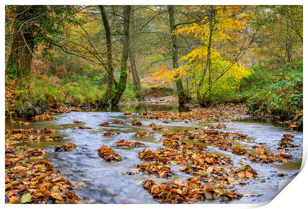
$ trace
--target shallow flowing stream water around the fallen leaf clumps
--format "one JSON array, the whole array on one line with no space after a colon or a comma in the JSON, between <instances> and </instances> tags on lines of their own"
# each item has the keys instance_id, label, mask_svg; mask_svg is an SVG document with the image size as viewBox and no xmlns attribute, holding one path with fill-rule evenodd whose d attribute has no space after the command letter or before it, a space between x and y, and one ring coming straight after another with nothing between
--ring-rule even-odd
<instances>
[{"instance_id":1,"label":"shallow flowing stream water around the fallen leaf clumps","mask_svg":"<svg viewBox=\"0 0 308 209\"><path fill-rule=\"evenodd\" d=\"M75 185L75 191L78 196L82 197L80 203L107 203L107 204L155 204L157 203L153 197L143 188L142 182L149 179L148 175L127 175L125 172L131 171L136 164L141 163L138 152L143 149L151 149L155 151L157 147L161 147L159 141L164 132L177 132L184 130L193 130L194 128L204 128L210 124L217 122L202 123L184 123L170 122L161 123L160 120L145 119L139 116L123 115L125 111L143 112L143 111L179 111L175 104L134 104L121 106L119 109L112 111L93 111L93 112L71 112L57 114L56 120L30 121L31 124L22 128L42 129L50 127L56 129L56 133L47 135L62 135L63 140L59 141L32 141L23 142L18 145L27 145L30 147L43 148L48 152L45 159L54 164L54 169L59 170L63 176L69 179ZM187 109L186 109L187 110ZM180 109L185 111L185 109ZM129 123L133 119L142 122L142 126L132 126ZM84 121L85 123L74 124L73 119ZM114 119L122 120L124 124L112 124ZM98 124L108 121L110 126L101 127ZM162 125L169 130L155 131L156 134L147 137L135 136L137 131L152 131L149 124L155 123ZM294 135L294 143L299 145L296 148L290 148L287 151L293 155L288 163L271 163L260 164L247 161L246 156L234 155L229 151L222 151L215 147L209 147L209 152L217 155L230 156L234 164L240 161L247 161L253 169L258 173L257 179L250 180L245 186L236 186L232 189L237 190L241 194L253 194L250 197L242 197L239 200L233 200L230 203L262 203L273 199L278 190L279 181L289 179L298 174L302 163L303 153L303 132L290 131L288 127L279 123L274 123L269 119L255 119L248 117L245 119L224 122L228 126L223 131L234 131L247 134L248 140L240 142L237 146L241 146L251 153L253 145L266 145L272 153L279 153L277 150L279 140L285 133ZM72 129L74 127L85 125L93 129ZM21 128L19 125L5 123L5 128ZM120 134L114 136L104 136L106 130L118 131ZM131 141L140 141L145 143L145 147L140 148L117 148L114 142L119 139ZM54 152L55 146L73 142L77 145L77 149L71 152ZM185 141L187 143L196 143ZM238 142L235 142L238 143ZM98 157L97 149L105 144L114 149L123 157L121 162L105 162ZM238 164L239 165L239 164ZM178 165L171 165L172 170L180 168ZM284 177L278 177L278 173L287 174ZM190 177L181 171L175 172L175 176L170 180L184 180ZM155 179L154 181L162 182L166 179ZM205 201L201 203L221 203L219 201Z\"/></svg>"}]
</instances>

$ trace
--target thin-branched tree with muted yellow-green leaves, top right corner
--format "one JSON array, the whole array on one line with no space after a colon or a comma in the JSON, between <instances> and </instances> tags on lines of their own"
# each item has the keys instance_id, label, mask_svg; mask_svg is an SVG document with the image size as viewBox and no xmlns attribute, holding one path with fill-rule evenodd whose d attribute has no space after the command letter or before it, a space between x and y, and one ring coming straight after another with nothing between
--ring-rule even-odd
<instances>
[{"instance_id":1,"label":"thin-branched tree with muted yellow-green leaves, top right corner","mask_svg":"<svg viewBox=\"0 0 308 209\"><path fill-rule=\"evenodd\" d=\"M303 59L303 6L262 5L253 8L262 36L256 48L257 62L273 68ZM264 58L263 58L264 57Z\"/></svg>"}]
</instances>

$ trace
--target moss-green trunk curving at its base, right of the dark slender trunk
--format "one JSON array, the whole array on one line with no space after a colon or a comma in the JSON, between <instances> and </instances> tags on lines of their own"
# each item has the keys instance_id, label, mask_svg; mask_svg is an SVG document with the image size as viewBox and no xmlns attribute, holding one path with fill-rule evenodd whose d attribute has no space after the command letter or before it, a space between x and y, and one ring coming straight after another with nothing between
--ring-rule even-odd
<instances>
[{"instance_id":1,"label":"moss-green trunk curving at its base, right of the dark slender trunk","mask_svg":"<svg viewBox=\"0 0 308 209\"><path fill-rule=\"evenodd\" d=\"M112 93L111 103L117 105L125 91L127 83L127 59L129 51L129 22L130 22L130 5L124 6L124 35L123 35L123 51L121 59L121 73L117 87Z\"/></svg>"}]
</instances>

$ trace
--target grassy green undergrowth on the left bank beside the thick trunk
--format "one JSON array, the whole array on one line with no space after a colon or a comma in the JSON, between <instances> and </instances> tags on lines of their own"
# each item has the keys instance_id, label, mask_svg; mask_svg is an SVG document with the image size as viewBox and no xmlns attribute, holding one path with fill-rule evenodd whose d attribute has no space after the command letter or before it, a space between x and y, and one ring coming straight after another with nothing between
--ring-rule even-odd
<instances>
[{"instance_id":1,"label":"grassy green undergrowth on the left bank beside the thick trunk","mask_svg":"<svg viewBox=\"0 0 308 209\"><path fill-rule=\"evenodd\" d=\"M78 81L31 75L17 87L17 98L41 107L58 107L64 103L98 105L104 89L87 78ZM16 108L17 109L17 108Z\"/></svg>"}]
</instances>

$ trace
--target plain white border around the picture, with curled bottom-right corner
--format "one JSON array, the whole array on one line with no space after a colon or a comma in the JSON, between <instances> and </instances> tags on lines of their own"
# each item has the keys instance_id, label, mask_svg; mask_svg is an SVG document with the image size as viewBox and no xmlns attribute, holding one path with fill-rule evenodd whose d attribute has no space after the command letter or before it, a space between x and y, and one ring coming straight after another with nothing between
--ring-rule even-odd
<instances>
[{"instance_id":1,"label":"plain white border around the picture, with curled bottom-right corner","mask_svg":"<svg viewBox=\"0 0 308 209\"><path fill-rule=\"evenodd\" d=\"M183 5L202 5L202 4L250 4L250 5L266 5L266 4L299 4L304 5L304 37L307 37L307 1L305 0L53 0L53 1L42 1L42 0L3 0L1 4L1 58L2 61L4 61L4 5L5 4L105 4L105 5L119 5L119 4L139 4L139 5L166 5L166 4L183 4ZM307 61L305 58L307 58L307 46L306 44L306 38L304 38L304 125L306 125L306 118L307 118ZM1 136L1 143L0 143L0 165L1 165L1 181L0 181L0 188L3 188L1 190L0 195L0 204L7 208L21 208L25 207L25 205L5 205L4 204L4 62L2 62L1 65L1 71L0 71L0 106L2 108L0 115L2 120L0 120L0 136ZM306 127L306 126L304 126ZM305 129L305 128L304 128ZM278 208L278 209L302 209L306 205L305 208L307 208L307 190L308 190L308 169L307 166L304 167L306 159L307 159L307 132L304 130L304 153L303 153L303 163L301 167L301 173L291 181L291 183L287 186L286 189L282 190L282 192L274 198L269 204L263 203L263 204L219 204L219 205L205 205L205 204L178 204L178 205L171 205L171 204L161 204L161 205L91 205L90 207L93 208L101 208L101 207L107 207L107 208L215 208L215 209L221 209L221 208L232 208L232 209L241 209L241 208L256 208L264 206L264 209L272 209L272 208ZM134 191L132 191L134 192ZM85 205L46 205L43 206L44 208L83 208ZM27 205L27 207L30 208L41 208L42 205Z\"/></svg>"}]
</instances>

